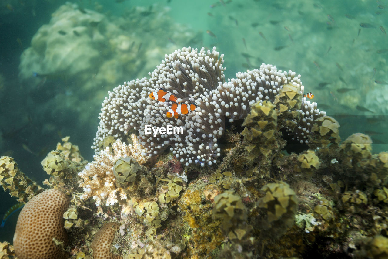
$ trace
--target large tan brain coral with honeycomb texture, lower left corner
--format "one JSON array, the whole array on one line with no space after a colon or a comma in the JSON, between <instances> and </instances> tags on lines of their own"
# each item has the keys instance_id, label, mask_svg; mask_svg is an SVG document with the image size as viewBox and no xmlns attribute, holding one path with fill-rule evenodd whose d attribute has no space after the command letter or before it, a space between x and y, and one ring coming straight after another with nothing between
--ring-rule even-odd
<instances>
[{"instance_id":1,"label":"large tan brain coral with honeycomb texture, lower left corner","mask_svg":"<svg viewBox=\"0 0 388 259\"><path fill-rule=\"evenodd\" d=\"M61 191L49 189L33 197L21 210L14 235L19 259L67 258L67 234L62 218L69 205Z\"/></svg>"}]
</instances>

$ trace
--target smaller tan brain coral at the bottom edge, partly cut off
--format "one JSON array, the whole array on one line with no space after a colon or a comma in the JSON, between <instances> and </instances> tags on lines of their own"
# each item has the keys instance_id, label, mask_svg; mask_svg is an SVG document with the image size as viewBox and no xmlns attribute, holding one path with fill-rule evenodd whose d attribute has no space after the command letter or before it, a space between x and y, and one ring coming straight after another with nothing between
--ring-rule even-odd
<instances>
[{"instance_id":1,"label":"smaller tan brain coral at the bottom edge, partly cut off","mask_svg":"<svg viewBox=\"0 0 388 259\"><path fill-rule=\"evenodd\" d=\"M110 222L104 224L94 236L92 245L93 259L121 259L121 256L111 254L111 245L114 233L119 229L119 224Z\"/></svg>"}]
</instances>

